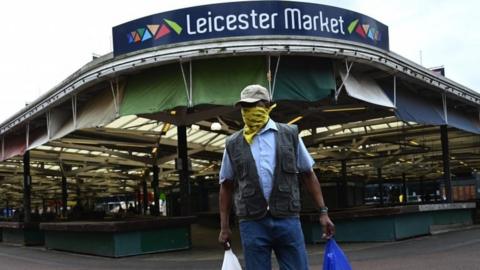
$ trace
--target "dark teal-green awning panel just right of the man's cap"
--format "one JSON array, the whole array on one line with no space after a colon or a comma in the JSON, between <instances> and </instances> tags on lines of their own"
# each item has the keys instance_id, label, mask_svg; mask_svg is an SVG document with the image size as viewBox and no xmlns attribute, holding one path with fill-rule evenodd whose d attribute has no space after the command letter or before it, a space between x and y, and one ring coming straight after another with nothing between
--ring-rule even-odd
<instances>
[{"instance_id":1,"label":"dark teal-green awning panel just right of the man's cap","mask_svg":"<svg viewBox=\"0 0 480 270\"><path fill-rule=\"evenodd\" d=\"M282 56L273 100L318 101L335 90L332 62L311 56Z\"/></svg>"}]
</instances>

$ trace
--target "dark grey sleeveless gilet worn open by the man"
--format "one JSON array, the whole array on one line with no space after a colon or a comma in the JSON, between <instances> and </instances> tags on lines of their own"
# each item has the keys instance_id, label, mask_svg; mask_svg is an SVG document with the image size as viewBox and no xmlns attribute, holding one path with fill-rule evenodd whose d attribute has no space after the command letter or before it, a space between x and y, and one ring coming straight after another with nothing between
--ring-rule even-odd
<instances>
[{"instance_id":1,"label":"dark grey sleeveless gilet worn open by the man","mask_svg":"<svg viewBox=\"0 0 480 270\"><path fill-rule=\"evenodd\" d=\"M295 125L275 123L276 166L269 201L265 200L255 160L243 130L227 139L227 154L234 171L234 202L240 220L254 220L266 215L274 217L298 216L300 192L297 177L298 129Z\"/></svg>"}]
</instances>

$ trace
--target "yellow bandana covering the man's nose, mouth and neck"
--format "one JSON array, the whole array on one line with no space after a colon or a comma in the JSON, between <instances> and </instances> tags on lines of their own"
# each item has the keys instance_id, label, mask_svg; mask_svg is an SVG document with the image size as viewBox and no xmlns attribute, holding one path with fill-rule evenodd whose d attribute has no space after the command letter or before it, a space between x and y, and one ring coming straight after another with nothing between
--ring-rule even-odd
<instances>
[{"instance_id":1,"label":"yellow bandana covering the man's nose, mouth and neck","mask_svg":"<svg viewBox=\"0 0 480 270\"><path fill-rule=\"evenodd\" d=\"M243 137L252 144L253 137L267 124L270 112L277 106L273 104L270 108L252 107L242 108L242 118L245 126L243 127Z\"/></svg>"}]
</instances>

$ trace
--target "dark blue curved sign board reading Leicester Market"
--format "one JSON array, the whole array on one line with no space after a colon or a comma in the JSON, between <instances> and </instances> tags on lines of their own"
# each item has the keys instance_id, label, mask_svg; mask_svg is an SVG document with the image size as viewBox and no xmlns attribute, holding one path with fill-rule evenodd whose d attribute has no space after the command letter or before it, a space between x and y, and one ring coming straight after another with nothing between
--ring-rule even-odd
<instances>
[{"instance_id":1,"label":"dark blue curved sign board reading Leicester Market","mask_svg":"<svg viewBox=\"0 0 480 270\"><path fill-rule=\"evenodd\" d=\"M388 27L346 9L287 1L250 1L178 9L113 28L113 53L242 36L308 36L389 50Z\"/></svg>"}]
</instances>

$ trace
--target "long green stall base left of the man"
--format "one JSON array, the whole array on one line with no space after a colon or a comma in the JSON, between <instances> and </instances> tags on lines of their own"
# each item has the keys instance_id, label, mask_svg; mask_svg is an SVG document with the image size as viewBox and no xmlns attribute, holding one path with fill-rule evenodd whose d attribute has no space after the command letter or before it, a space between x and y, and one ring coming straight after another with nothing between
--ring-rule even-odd
<instances>
[{"instance_id":1,"label":"long green stall base left of the man","mask_svg":"<svg viewBox=\"0 0 480 270\"><path fill-rule=\"evenodd\" d=\"M118 224L118 222L112 223ZM90 225L91 223L86 224ZM102 229L98 226L96 228L84 226L83 231L80 231L78 228L68 230L68 226L62 230L52 230L52 226L49 225L48 228L43 228L45 247L105 257L134 256L185 250L191 247L190 221L185 224L177 224L177 226L158 228L135 226L135 222L133 222L131 226L127 227Z\"/></svg>"}]
</instances>

